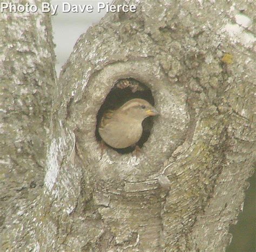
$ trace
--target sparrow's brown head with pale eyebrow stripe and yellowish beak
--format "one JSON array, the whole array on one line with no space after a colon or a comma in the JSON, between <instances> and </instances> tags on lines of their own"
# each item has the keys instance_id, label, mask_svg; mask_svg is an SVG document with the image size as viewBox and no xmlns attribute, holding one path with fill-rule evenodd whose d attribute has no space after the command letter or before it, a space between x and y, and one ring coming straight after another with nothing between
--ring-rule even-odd
<instances>
[{"instance_id":1,"label":"sparrow's brown head with pale eyebrow stripe and yellowish beak","mask_svg":"<svg viewBox=\"0 0 256 252\"><path fill-rule=\"evenodd\" d=\"M131 99L118 110L142 121L146 117L159 114L156 108L143 99Z\"/></svg>"}]
</instances>

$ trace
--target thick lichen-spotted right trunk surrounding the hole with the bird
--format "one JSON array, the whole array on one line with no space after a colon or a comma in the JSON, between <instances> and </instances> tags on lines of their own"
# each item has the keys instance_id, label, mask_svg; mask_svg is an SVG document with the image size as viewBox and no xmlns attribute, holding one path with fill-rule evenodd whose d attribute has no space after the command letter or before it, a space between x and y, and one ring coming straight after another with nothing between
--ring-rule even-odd
<instances>
[{"instance_id":1,"label":"thick lichen-spotted right trunk surrounding the hole with the bird","mask_svg":"<svg viewBox=\"0 0 256 252\"><path fill-rule=\"evenodd\" d=\"M28 243L45 250L224 251L255 152L255 45L227 30L245 6L128 2L137 12L108 13L80 36L60 74ZM244 15L252 13L246 5ZM101 158L97 113L125 78L150 88L161 116L139 158L110 148ZM19 230L13 248L28 246L23 235Z\"/></svg>"}]
</instances>

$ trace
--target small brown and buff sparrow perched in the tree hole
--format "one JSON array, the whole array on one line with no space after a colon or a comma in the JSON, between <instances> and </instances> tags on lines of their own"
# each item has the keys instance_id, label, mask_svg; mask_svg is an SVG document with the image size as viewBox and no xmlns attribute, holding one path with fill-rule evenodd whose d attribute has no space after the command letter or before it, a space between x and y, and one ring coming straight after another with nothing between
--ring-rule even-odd
<instances>
[{"instance_id":1,"label":"small brown and buff sparrow perched in the tree hole","mask_svg":"<svg viewBox=\"0 0 256 252\"><path fill-rule=\"evenodd\" d=\"M103 114L99 124L99 135L113 148L134 146L142 136L142 122L146 117L159 114L143 99L131 99L117 110Z\"/></svg>"}]
</instances>

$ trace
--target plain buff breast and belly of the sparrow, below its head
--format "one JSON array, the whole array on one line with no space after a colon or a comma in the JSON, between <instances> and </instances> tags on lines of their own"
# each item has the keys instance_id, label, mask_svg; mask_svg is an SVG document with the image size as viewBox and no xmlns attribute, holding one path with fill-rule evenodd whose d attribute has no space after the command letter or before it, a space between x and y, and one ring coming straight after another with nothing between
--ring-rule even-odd
<instances>
[{"instance_id":1,"label":"plain buff breast and belly of the sparrow, below its head","mask_svg":"<svg viewBox=\"0 0 256 252\"><path fill-rule=\"evenodd\" d=\"M136 144L142 132L142 122L131 118L112 118L103 128L99 128L100 137L113 148L126 148Z\"/></svg>"}]
</instances>

